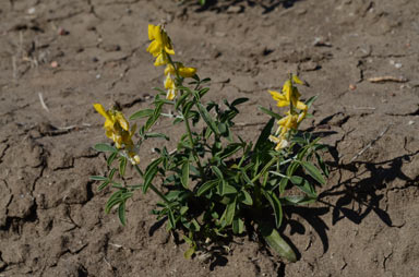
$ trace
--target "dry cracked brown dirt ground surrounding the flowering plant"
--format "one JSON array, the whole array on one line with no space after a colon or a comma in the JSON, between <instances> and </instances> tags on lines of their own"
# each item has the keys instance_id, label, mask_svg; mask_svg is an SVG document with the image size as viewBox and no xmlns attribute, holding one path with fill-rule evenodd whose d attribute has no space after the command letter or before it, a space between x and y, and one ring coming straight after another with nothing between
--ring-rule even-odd
<instances>
[{"instance_id":1,"label":"dry cracked brown dirt ground surrounding the flowering plant","mask_svg":"<svg viewBox=\"0 0 419 277\"><path fill-rule=\"evenodd\" d=\"M419 1L207 2L0 1L0 276L419 276ZM302 128L331 145L332 176L319 203L285 209L297 263L249 236L184 260L151 193L128 203L127 227L105 214L92 104L151 104L163 70L146 32L161 20L178 59L212 77L207 99L250 98L236 129L249 140L288 72L319 96Z\"/></svg>"}]
</instances>

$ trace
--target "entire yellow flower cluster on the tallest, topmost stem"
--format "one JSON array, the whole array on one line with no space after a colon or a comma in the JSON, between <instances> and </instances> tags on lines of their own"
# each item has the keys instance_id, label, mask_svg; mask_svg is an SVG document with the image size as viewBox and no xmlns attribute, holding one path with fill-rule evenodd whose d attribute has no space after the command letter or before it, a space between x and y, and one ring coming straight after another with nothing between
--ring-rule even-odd
<instances>
[{"instance_id":1,"label":"entire yellow flower cluster on the tallest, topmost stem","mask_svg":"<svg viewBox=\"0 0 419 277\"><path fill-rule=\"evenodd\" d=\"M195 68L183 67L180 62L173 62L170 55L175 55L170 37L161 26L148 25L148 38L152 40L147 51L156 58L155 67L166 65L165 69L165 88L166 98L175 99L184 77L192 77L196 73Z\"/></svg>"}]
</instances>

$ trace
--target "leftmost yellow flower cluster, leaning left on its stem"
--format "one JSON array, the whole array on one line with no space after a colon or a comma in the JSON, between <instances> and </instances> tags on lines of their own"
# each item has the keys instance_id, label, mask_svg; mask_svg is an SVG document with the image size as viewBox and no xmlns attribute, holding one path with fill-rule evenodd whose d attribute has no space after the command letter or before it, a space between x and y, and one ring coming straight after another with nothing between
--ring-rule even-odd
<instances>
[{"instance_id":1,"label":"leftmost yellow flower cluster, leaning left on its stem","mask_svg":"<svg viewBox=\"0 0 419 277\"><path fill-rule=\"evenodd\" d=\"M93 107L105 118L104 129L106 136L115 142L117 148L124 148L127 158L133 165L137 165L140 156L136 155L136 149L132 142L132 135L135 133L136 125L134 124L130 130L130 124L119 110L105 110L100 104L94 104Z\"/></svg>"}]
</instances>

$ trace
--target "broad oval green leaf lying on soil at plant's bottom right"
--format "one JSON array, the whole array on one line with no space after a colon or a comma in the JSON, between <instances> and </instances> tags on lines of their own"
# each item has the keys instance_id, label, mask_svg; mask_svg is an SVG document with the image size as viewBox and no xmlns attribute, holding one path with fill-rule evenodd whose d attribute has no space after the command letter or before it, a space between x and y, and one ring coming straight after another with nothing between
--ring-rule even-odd
<instances>
[{"instance_id":1,"label":"broad oval green leaf lying on soil at plant's bottom right","mask_svg":"<svg viewBox=\"0 0 419 277\"><path fill-rule=\"evenodd\" d=\"M279 236L278 231L266 222L260 222L259 230L270 245L280 256L287 258L289 262L297 262L296 253L288 245L288 243Z\"/></svg>"}]
</instances>

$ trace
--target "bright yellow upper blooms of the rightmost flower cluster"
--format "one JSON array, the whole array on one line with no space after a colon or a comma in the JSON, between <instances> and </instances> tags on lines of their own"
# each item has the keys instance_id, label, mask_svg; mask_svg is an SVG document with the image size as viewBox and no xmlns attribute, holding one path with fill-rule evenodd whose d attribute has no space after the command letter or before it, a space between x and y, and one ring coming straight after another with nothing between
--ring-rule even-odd
<instances>
[{"instance_id":1,"label":"bright yellow upper blooms of the rightmost flower cluster","mask_svg":"<svg viewBox=\"0 0 419 277\"><path fill-rule=\"evenodd\" d=\"M301 94L298 92L298 88L292 85L292 82L297 84L302 84L296 75L287 80L283 86L283 92L278 93L275 91L268 91L272 95L272 98L277 101L278 107L287 107L292 104L294 107L300 110L307 110L308 107L302 101L299 101Z\"/></svg>"}]
</instances>

